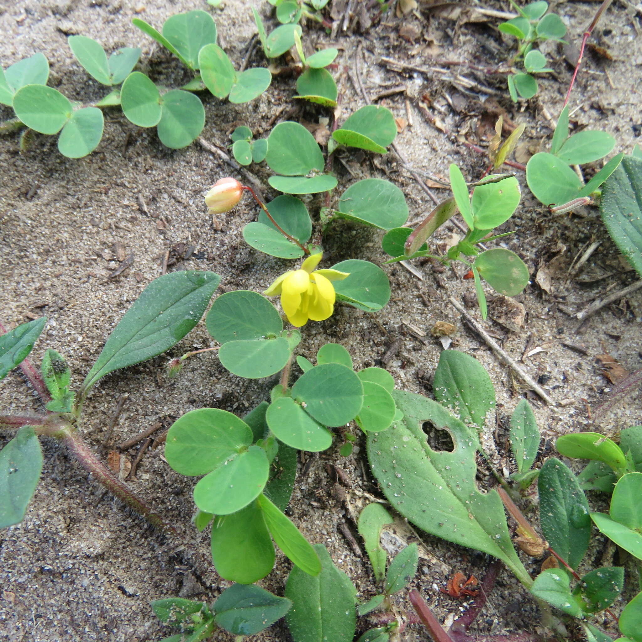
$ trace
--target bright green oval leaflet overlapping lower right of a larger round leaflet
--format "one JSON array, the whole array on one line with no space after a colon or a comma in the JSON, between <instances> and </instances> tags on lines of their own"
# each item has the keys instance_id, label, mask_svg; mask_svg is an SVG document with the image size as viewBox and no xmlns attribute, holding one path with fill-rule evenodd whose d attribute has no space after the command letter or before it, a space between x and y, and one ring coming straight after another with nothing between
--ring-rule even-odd
<instances>
[{"instance_id":1,"label":"bright green oval leaflet overlapping lower right of a larger round leaflet","mask_svg":"<svg viewBox=\"0 0 642 642\"><path fill-rule=\"evenodd\" d=\"M254 501L270 476L265 450L250 446L214 469L194 488L194 501L200 510L229 515Z\"/></svg>"}]
</instances>

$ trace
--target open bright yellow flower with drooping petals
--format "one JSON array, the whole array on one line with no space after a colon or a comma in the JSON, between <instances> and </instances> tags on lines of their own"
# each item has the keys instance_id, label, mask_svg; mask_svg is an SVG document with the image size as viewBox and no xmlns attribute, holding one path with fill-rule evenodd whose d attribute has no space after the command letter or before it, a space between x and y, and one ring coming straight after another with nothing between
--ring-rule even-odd
<instances>
[{"instance_id":1,"label":"open bright yellow flower with drooping petals","mask_svg":"<svg viewBox=\"0 0 642 642\"><path fill-rule=\"evenodd\" d=\"M323 321L331 317L336 299L332 281L342 281L350 275L338 270L313 272L322 256L320 252L309 256L300 270L282 274L264 292L268 297L281 295L281 307L296 327L306 325L309 319Z\"/></svg>"}]
</instances>

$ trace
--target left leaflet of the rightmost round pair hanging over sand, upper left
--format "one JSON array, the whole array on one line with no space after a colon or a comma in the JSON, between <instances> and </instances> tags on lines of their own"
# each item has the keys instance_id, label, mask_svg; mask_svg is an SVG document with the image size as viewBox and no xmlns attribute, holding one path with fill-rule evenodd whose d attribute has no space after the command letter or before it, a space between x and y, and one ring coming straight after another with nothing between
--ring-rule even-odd
<instances>
[{"instance_id":1,"label":"left leaflet of the rightmost round pair hanging over sand, upper left","mask_svg":"<svg viewBox=\"0 0 642 642\"><path fill-rule=\"evenodd\" d=\"M162 96L162 115L158 124L159 139L173 150L195 141L205 126L205 108L198 96L172 89Z\"/></svg>"}]
</instances>

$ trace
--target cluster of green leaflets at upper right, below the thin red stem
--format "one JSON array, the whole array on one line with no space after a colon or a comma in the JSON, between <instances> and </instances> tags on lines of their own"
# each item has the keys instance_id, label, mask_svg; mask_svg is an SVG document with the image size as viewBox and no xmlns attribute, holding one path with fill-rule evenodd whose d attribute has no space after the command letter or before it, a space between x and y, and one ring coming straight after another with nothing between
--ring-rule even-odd
<instances>
[{"instance_id":1,"label":"cluster of green leaflets at upper right, below the thin red stem","mask_svg":"<svg viewBox=\"0 0 642 642\"><path fill-rule=\"evenodd\" d=\"M571 165L582 165L605 157L615 146L607 132L584 130L568 135L568 107L562 109L551 141L551 151L536 153L526 164L526 182L544 205L570 204L590 196L618 168L623 154L614 156L585 185Z\"/></svg>"}]
</instances>

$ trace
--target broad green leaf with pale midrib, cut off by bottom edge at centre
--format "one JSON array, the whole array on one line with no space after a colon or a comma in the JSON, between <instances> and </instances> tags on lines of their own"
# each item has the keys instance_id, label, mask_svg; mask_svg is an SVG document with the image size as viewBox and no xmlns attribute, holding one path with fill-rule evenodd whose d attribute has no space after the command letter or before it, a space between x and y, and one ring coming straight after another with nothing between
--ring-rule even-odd
<instances>
[{"instance_id":1,"label":"broad green leaf with pale midrib, cut off by bottom edge at centre","mask_svg":"<svg viewBox=\"0 0 642 642\"><path fill-rule=\"evenodd\" d=\"M293 568L285 588L292 608L286 615L295 642L352 642L356 627L355 594L349 577L334 566L323 544L316 577Z\"/></svg>"}]
</instances>

